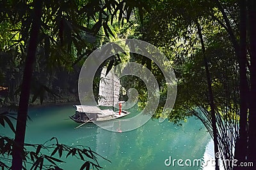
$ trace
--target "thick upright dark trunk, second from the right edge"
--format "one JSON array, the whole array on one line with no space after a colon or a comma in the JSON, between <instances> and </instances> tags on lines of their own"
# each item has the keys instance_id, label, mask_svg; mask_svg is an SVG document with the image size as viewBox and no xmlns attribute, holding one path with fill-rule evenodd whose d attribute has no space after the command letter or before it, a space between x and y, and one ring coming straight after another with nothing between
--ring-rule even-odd
<instances>
[{"instance_id":1,"label":"thick upright dark trunk, second from the right edge","mask_svg":"<svg viewBox=\"0 0 256 170\"><path fill-rule=\"evenodd\" d=\"M247 94L248 82L246 77L246 1L240 0L240 52L239 52L239 91L240 91L240 120L239 120L239 138L236 142L235 158L239 162L246 160L247 154ZM237 162L237 164L239 164ZM234 167L242 169L243 167Z\"/></svg>"}]
</instances>

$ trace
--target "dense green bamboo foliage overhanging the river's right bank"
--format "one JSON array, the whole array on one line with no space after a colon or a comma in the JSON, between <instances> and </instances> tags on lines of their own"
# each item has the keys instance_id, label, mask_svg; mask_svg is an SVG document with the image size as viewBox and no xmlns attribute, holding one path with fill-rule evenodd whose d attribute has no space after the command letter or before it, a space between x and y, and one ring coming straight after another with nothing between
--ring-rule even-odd
<instances>
[{"instance_id":1,"label":"dense green bamboo foliage overhanging the river's right bank","mask_svg":"<svg viewBox=\"0 0 256 170\"><path fill-rule=\"evenodd\" d=\"M143 25L137 28L141 39L161 48L173 62L178 88L168 119L179 124L179 120L195 115L212 136L213 124L216 124L218 149L225 159L234 158L230 153L234 153L238 136L238 20L237 1L161 1L154 4ZM205 52L196 23L202 28ZM216 122L212 122L205 65L209 67L212 81ZM162 116L164 94L166 91L161 90L160 108L154 115L157 118ZM232 166L225 165L225 168L232 169Z\"/></svg>"}]
</instances>

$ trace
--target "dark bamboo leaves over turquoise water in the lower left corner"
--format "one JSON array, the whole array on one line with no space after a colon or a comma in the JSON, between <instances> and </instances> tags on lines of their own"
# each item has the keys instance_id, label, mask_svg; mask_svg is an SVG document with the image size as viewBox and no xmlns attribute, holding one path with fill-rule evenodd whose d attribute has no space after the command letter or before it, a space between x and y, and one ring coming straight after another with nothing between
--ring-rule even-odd
<instances>
[{"instance_id":1,"label":"dark bamboo leaves over turquoise water in the lower left corner","mask_svg":"<svg viewBox=\"0 0 256 170\"><path fill-rule=\"evenodd\" d=\"M8 112L0 113L0 124L5 127L4 122L6 122L10 129L15 132L10 118L15 119ZM8 162L12 160L14 145L14 139L0 135L0 167L2 169L11 168ZM76 159L81 160L80 169L89 169L90 167L99 169L102 167L99 165L98 158L107 160L96 152L93 152L89 147L82 145L68 146L59 143L57 138L52 138L44 144L24 144L22 152L23 169L61 169L59 163L66 163L61 159L67 159L68 157L76 157Z\"/></svg>"}]
</instances>

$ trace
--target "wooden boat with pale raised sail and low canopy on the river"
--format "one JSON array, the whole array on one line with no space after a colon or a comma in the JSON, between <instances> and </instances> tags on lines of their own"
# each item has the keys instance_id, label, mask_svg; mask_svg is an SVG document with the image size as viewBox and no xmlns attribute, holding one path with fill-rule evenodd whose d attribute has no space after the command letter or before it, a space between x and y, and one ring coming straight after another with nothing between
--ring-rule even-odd
<instances>
[{"instance_id":1,"label":"wooden boat with pale raised sail and low canopy on the river","mask_svg":"<svg viewBox=\"0 0 256 170\"><path fill-rule=\"evenodd\" d=\"M98 106L74 105L76 113L70 118L77 123L99 122L113 120L129 115L130 112L122 110L122 103L119 101L120 80L113 73L113 70L106 74L107 69L103 68L100 73L99 100ZM101 110L99 106L108 106L112 109ZM118 111L114 111L119 106Z\"/></svg>"}]
</instances>

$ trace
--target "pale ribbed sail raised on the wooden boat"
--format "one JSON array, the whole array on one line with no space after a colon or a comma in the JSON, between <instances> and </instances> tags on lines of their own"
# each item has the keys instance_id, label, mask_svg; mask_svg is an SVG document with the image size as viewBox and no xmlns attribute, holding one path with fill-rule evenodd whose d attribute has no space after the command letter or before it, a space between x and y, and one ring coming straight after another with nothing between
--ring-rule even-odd
<instances>
[{"instance_id":1,"label":"pale ribbed sail raised on the wooden boat","mask_svg":"<svg viewBox=\"0 0 256 170\"><path fill-rule=\"evenodd\" d=\"M106 68L100 74L99 100L100 106L115 106L119 101L120 80L113 69L106 75Z\"/></svg>"}]
</instances>

